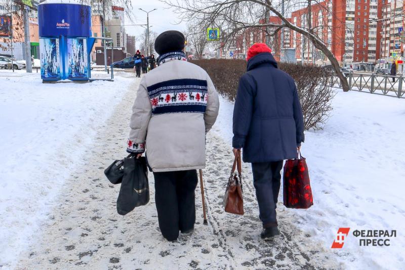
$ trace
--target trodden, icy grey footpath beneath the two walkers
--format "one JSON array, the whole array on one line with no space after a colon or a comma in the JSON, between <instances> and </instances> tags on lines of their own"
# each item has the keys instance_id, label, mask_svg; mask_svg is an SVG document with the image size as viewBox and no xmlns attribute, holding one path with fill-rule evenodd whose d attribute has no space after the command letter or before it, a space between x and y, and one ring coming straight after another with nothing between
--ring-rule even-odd
<instances>
[{"instance_id":1,"label":"trodden, icy grey footpath beneath the two walkers","mask_svg":"<svg viewBox=\"0 0 405 270\"><path fill-rule=\"evenodd\" d=\"M133 89L133 88L132 88ZM114 159L126 156L125 142L135 89L115 107L98 130L94 145L66 181L52 215L35 244L20 256L17 269L339 269L330 252L285 218L279 205L281 236L264 242L248 165L244 216L224 213L222 204L232 153L214 133L207 139L204 170L209 225L203 225L200 190L196 189L196 224L191 235L168 242L160 234L149 174L150 202L127 216L116 213L119 185L103 174Z\"/></svg>"}]
</instances>

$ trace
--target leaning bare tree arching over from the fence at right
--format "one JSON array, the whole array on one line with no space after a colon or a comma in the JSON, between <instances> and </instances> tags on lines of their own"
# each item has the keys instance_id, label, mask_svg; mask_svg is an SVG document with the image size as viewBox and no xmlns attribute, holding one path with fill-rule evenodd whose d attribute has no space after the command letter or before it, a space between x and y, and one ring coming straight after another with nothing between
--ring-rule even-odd
<instances>
[{"instance_id":1,"label":"leaning bare tree arching over from the fence at right","mask_svg":"<svg viewBox=\"0 0 405 270\"><path fill-rule=\"evenodd\" d=\"M328 48L325 41L318 35L317 28L328 27L327 25L312 26L312 4L318 4L317 0L300 0L294 4L297 7L307 7L306 24L297 26L288 17L281 13L279 4L274 4L270 0L161 0L169 7L174 8L179 14L179 18L183 21L204 21L211 26L221 28L221 41L226 44L245 29L258 29L266 36L275 36L285 28L289 28L294 32L302 35L304 42L310 41L313 46L321 51L330 60L339 77L344 91L349 91L349 85L346 77L340 70L340 65L334 54ZM294 0L286 1L293 3ZM278 3L278 2L277 2ZM291 6L291 5L290 5ZM332 15L332 11L325 7L326 12ZM280 19L280 23L271 23L267 19L269 13L274 14ZM263 20L265 19L266 20ZM343 29L344 23L343 23ZM224 34L225 33L225 34ZM283 42L283 41L282 41ZM303 59L302 59L303 60Z\"/></svg>"}]
</instances>

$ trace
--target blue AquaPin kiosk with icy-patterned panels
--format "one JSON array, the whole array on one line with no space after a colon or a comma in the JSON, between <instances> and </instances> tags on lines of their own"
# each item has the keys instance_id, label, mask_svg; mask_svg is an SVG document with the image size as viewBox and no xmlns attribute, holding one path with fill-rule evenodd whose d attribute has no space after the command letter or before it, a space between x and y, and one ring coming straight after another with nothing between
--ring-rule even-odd
<instances>
[{"instance_id":1,"label":"blue AquaPin kiosk with icy-patterned panels","mask_svg":"<svg viewBox=\"0 0 405 270\"><path fill-rule=\"evenodd\" d=\"M91 7L72 0L47 0L38 5L39 52L43 82L89 81Z\"/></svg>"}]
</instances>

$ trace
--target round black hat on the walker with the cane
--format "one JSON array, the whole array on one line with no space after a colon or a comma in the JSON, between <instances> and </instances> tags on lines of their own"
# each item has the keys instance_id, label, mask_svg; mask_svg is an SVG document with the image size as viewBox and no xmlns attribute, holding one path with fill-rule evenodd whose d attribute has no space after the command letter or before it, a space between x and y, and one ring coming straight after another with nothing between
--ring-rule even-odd
<instances>
[{"instance_id":1,"label":"round black hat on the walker with the cane","mask_svg":"<svg viewBox=\"0 0 405 270\"><path fill-rule=\"evenodd\" d=\"M155 51L159 54L177 52L184 49L185 37L175 30L169 30L159 34L155 40Z\"/></svg>"}]
</instances>

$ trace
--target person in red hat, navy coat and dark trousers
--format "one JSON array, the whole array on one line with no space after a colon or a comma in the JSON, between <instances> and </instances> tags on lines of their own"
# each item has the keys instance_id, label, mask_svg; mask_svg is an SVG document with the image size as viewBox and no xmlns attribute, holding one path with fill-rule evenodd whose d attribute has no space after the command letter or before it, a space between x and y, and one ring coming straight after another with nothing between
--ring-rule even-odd
<instances>
[{"instance_id":1,"label":"person in red hat, navy coat and dark trousers","mask_svg":"<svg viewBox=\"0 0 405 270\"><path fill-rule=\"evenodd\" d=\"M232 146L235 155L243 148L243 161L252 163L261 238L267 239L279 234L275 208L280 170L283 160L297 158L304 120L295 82L277 68L271 49L254 44L247 60L233 109Z\"/></svg>"}]
</instances>

